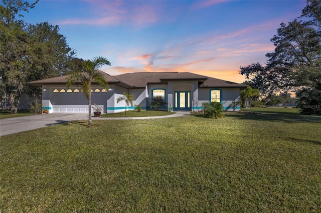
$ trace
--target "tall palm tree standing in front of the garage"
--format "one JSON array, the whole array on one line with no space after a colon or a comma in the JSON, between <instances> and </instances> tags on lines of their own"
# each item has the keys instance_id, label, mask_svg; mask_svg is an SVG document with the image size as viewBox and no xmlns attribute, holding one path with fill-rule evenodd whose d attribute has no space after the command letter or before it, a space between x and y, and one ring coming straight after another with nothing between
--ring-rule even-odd
<instances>
[{"instance_id":1,"label":"tall palm tree standing in front of the garage","mask_svg":"<svg viewBox=\"0 0 321 213\"><path fill-rule=\"evenodd\" d=\"M66 85L68 88L75 82L81 83L81 88L84 96L88 99L88 126L91 126L91 83L96 82L107 89L107 82L103 74L98 70L102 65L111 65L109 60L99 56L92 60L85 60L83 62L83 71L75 72L66 78Z\"/></svg>"}]
</instances>

